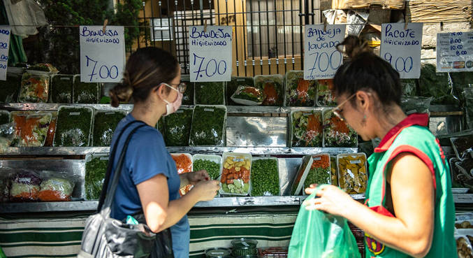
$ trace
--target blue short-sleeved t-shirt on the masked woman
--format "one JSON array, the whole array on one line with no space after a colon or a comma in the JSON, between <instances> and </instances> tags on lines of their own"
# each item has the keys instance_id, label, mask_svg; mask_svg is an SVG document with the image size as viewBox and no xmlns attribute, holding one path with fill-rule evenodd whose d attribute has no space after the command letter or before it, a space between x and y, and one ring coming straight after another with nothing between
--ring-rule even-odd
<instances>
[{"instance_id":1,"label":"blue short-sleeved t-shirt on the masked woman","mask_svg":"<svg viewBox=\"0 0 473 258\"><path fill-rule=\"evenodd\" d=\"M129 114L119 122L112 143L115 144L117 137L123 127L135 118ZM120 139L117 146L115 166L117 166L118 156L122 150L126 137L140 123L132 124ZM180 198L179 187L180 178L173 157L170 156L164 145L161 133L150 126L141 127L131 136L128 150L123 165L122 175L120 175L117 192L111 210L111 217L117 220L123 220L127 215L132 215L143 210L140 196L136 185L144 182L155 175L163 174L168 178L169 201ZM175 258L189 257L190 227L187 215L170 228L173 236L173 251Z\"/></svg>"}]
</instances>

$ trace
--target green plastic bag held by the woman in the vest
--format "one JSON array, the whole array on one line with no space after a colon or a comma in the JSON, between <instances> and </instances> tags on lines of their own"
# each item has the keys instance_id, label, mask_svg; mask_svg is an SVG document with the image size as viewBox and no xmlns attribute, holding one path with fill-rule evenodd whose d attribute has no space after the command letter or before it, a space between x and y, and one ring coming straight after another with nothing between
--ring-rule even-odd
<instances>
[{"instance_id":1,"label":"green plastic bag held by the woman in the vest","mask_svg":"<svg viewBox=\"0 0 473 258\"><path fill-rule=\"evenodd\" d=\"M307 197L314 199L318 189ZM289 244L289 258L360 258L355 236L343 217L300 206Z\"/></svg>"}]
</instances>

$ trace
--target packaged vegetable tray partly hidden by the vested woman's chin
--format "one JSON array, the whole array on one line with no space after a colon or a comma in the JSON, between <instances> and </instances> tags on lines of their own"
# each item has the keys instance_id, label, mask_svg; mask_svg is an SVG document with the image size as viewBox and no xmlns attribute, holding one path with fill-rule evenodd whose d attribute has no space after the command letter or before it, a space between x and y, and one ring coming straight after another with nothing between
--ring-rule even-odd
<instances>
[{"instance_id":1,"label":"packaged vegetable tray partly hidden by the vested woman's chin","mask_svg":"<svg viewBox=\"0 0 473 258\"><path fill-rule=\"evenodd\" d=\"M323 112L323 147L357 147L358 135L332 110Z\"/></svg>"}]
</instances>

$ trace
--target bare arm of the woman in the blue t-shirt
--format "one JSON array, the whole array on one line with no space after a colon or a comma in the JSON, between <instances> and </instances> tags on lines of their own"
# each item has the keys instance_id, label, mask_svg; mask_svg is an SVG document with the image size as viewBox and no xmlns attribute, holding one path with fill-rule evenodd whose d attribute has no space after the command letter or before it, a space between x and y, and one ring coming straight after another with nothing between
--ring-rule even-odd
<instances>
[{"instance_id":1,"label":"bare arm of the woman in the blue t-shirt","mask_svg":"<svg viewBox=\"0 0 473 258\"><path fill-rule=\"evenodd\" d=\"M156 175L136 185L136 188L146 224L157 233L179 222L198 201L213 199L219 190L219 182L198 182L189 193L174 201L169 201L168 180L165 175Z\"/></svg>"}]
</instances>

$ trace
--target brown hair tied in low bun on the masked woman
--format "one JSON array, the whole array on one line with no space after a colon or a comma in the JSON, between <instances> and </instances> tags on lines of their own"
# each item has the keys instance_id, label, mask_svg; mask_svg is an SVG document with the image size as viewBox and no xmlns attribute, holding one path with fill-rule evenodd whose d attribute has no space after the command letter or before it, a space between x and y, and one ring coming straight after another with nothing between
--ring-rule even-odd
<instances>
[{"instance_id":1,"label":"brown hair tied in low bun on the masked woman","mask_svg":"<svg viewBox=\"0 0 473 258\"><path fill-rule=\"evenodd\" d=\"M122 83L110 89L113 107L133 97L135 102L145 101L154 87L170 83L177 76L177 59L161 48L140 48L126 62ZM166 92L170 89L166 87Z\"/></svg>"}]
</instances>

